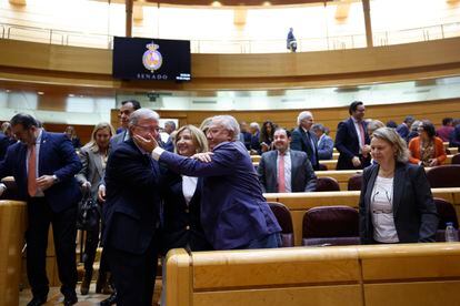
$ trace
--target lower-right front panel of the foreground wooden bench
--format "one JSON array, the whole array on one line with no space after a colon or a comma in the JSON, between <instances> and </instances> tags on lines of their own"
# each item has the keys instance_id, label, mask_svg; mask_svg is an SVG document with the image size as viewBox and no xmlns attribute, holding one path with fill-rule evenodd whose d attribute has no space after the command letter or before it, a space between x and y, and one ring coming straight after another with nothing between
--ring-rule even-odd
<instances>
[{"instance_id":1,"label":"lower-right front panel of the foreground wooden bench","mask_svg":"<svg viewBox=\"0 0 460 306\"><path fill-rule=\"evenodd\" d=\"M366 305L371 306L460 305L459 280L370 284L364 292Z\"/></svg>"}]
</instances>

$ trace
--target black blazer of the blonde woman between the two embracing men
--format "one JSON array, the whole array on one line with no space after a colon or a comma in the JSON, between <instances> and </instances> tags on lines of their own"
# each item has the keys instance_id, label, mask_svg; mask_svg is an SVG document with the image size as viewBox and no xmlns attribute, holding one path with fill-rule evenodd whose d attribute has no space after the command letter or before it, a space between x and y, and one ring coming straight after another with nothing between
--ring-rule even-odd
<instances>
[{"instance_id":1,"label":"black blazer of the blonde woman between the two embracing men","mask_svg":"<svg viewBox=\"0 0 460 306\"><path fill-rule=\"evenodd\" d=\"M198 178L197 190L187 205L182 192L182 176L168 171L161 178L163 198L161 253L166 255L171 248L190 251L212 249L201 227L201 184Z\"/></svg>"}]
</instances>

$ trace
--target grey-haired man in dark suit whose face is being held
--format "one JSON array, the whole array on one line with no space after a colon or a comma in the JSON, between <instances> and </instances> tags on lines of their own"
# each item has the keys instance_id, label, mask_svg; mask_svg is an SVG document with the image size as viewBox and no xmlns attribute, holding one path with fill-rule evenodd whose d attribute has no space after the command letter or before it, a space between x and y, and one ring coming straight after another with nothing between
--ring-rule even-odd
<instances>
[{"instance_id":1,"label":"grey-haired man in dark suit whose face is being held","mask_svg":"<svg viewBox=\"0 0 460 306\"><path fill-rule=\"evenodd\" d=\"M106 167L103 245L117 289L117 305L151 305L157 269L159 225L158 163L136 141L158 137L159 115L133 112L131 137L110 153ZM133 137L134 136L134 137Z\"/></svg>"}]
</instances>

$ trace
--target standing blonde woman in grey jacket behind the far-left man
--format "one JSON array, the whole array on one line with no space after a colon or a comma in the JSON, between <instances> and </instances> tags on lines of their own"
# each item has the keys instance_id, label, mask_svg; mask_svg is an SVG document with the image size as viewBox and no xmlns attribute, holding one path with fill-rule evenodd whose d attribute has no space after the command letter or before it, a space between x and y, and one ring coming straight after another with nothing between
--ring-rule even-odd
<instances>
[{"instance_id":1,"label":"standing blonde woman in grey jacket behind the far-left man","mask_svg":"<svg viewBox=\"0 0 460 306\"><path fill-rule=\"evenodd\" d=\"M86 192L91 194L91 197L97 201L98 185L106 172L107 159L109 156L110 137L114 134L113 128L106 122L99 123L94 126L91 133L91 141L80 150L80 161L83 167L77 174L76 178ZM84 243L84 276L80 286L82 295L87 295L92 279L92 266L94 264L96 251L99 245L99 223L91 231L87 231ZM101 262L104 261L104 256ZM99 277L106 278L106 271L103 267L107 263L99 265ZM98 279L98 284L103 280ZM102 288L100 288L102 289ZM99 288L97 288L99 290Z\"/></svg>"}]
</instances>

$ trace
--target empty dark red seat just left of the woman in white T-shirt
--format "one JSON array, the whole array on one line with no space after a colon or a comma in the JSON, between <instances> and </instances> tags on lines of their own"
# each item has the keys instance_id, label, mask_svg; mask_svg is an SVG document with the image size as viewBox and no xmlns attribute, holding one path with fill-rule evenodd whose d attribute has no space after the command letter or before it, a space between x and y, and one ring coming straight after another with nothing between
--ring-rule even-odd
<instances>
[{"instance_id":1,"label":"empty dark red seat just left of the woman in white T-shirt","mask_svg":"<svg viewBox=\"0 0 460 306\"><path fill-rule=\"evenodd\" d=\"M307 211L302 222L303 245L356 245L359 213L349 206L321 206Z\"/></svg>"}]
</instances>

